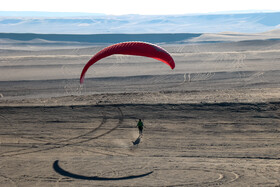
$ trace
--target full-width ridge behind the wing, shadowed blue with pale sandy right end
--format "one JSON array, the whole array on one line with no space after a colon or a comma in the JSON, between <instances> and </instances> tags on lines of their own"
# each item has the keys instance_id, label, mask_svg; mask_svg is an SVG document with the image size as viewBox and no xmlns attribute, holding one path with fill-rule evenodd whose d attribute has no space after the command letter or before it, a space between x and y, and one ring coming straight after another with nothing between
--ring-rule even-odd
<instances>
[{"instance_id":1,"label":"full-width ridge behind the wing, shadowed blue with pale sandy right end","mask_svg":"<svg viewBox=\"0 0 280 187\"><path fill-rule=\"evenodd\" d=\"M263 33L159 33L159 34L32 34L0 33L2 47L99 45L125 41L146 41L161 44L220 43L256 40L280 40L280 29Z\"/></svg>"}]
</instances>

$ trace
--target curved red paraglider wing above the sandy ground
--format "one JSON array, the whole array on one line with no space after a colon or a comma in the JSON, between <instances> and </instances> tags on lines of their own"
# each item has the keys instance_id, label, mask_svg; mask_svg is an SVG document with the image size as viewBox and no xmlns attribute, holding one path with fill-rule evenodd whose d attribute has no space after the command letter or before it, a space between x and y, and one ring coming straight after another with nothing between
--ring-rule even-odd
<instances>
[{"instance_id":1,"label":"curved red paraglider wing above the sandy ground","mask_svg":"<svg viewBox=\"0 0 280 187\"><path fill-rule=\"evenodd\" d=\"M145 56L157 59L169 65L171 69L175 68L175 63L170 54L163 48L145 42L123 42L111 45L106 47L96 53L84 66L84 69L81 73L80 83L83 83L85 74L88 68L93 65L98 60L114 55L114 54L123 54L123 55L137 55Z\"/></svg>"}]
</instances>

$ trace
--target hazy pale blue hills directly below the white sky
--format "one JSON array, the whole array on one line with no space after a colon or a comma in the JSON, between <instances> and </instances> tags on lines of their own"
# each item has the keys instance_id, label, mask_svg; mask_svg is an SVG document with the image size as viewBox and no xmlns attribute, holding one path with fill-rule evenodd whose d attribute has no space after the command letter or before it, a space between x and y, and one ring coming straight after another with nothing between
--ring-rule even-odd
<instances>
[{"instance_id":1,"label":"hazy pale blue hills directly below the white sky","mask_svg":"<svg viewBox=\"0 0 280 187\"><path fill-rule=\"evenodd\" d=\"M0 32L40 34L259 33L279 28L280 12L209 15L102 15L1 12Z\"/></svg>"}]
</instances>

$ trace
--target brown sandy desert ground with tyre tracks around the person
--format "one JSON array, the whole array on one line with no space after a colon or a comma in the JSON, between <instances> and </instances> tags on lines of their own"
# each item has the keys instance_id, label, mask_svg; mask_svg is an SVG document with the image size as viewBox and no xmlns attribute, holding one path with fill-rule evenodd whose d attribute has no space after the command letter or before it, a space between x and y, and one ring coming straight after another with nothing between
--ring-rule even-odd
<instances>
[{"instance_id":1,"label":"brown sandy desert ground with tyre tracks around the person","mask_svg":"<svg viewBox=\"0 0 280 187\"><path fill-rule=\"evenodd\" d=\"M100 48L1 50L1 186L280 185L280 42Z\"/></svg>"}]
</instances>

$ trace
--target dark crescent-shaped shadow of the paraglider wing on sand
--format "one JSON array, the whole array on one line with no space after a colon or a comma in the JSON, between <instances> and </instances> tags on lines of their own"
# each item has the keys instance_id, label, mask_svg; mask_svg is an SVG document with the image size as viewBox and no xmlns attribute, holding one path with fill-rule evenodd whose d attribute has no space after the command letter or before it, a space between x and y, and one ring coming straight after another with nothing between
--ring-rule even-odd
<instances>
[{"instance_id":1,"label":"dark crescent-shaped shadow of the paraglider wing on sand","mask_svg":"<svg viewBox=\"0 0 280 187\"><path fill-rule=\"evenodd\" d=\"M98 180L98 181L114 181L114 180L135 179L135 178L145 177L145 176L153 173L153 171L150 171L148 173L144 173L144 174L141 174L141 175L129 175L129 176L124 176L124 177L84 176L84 175L78 175L78 174L70 173L69 171L66 171L66 170L62 169L58 165L58 160L56 160L53 163L53 169L54 169L55 172L57 172L60 175L65 176L65 177L70 177L70 178L74 178L74 179L81 179L81 180Z\"/></svg>"}]
</instances>

